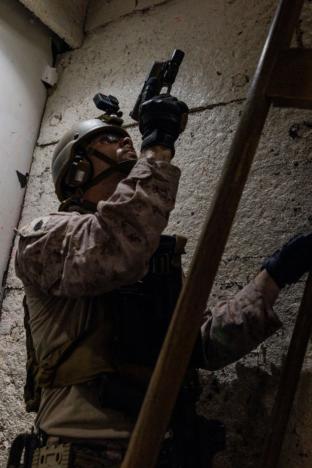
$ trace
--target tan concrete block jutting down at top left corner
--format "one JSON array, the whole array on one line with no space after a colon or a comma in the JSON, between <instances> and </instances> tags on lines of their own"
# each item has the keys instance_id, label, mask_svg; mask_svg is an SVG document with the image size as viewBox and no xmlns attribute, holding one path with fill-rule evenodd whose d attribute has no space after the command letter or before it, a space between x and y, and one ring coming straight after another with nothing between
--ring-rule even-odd
<instances>
[{"instance_id":1,"label":"tan concrete block jutting down at top left corner","mask_svg":"<svg viewBox=\"0 0 312 468\"><path fill-rule=\"evenodd\" d=\"M83 41L88 0L20 0L73 49Z\"/></svg>"}]
</instances>

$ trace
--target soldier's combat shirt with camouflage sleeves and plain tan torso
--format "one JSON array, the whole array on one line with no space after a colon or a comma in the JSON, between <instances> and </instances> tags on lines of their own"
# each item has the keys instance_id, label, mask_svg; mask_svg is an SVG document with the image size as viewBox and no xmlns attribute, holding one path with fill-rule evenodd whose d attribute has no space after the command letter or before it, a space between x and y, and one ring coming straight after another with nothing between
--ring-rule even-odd
<instances>
[{"instance_id":1,"label":"soldier's combat shirt with camouflage sleeves and plain tan torso","mask_svg":"<svg viewBox=\"0 0 312 468\"><path fill-rule=\"evenodd\" d=\"M17 231L15 271L25 287L39 362L105 316L102 294L143 278L174 208L179 177L174 165L149 156L95 214L52 213ZM207 368L244 356L280 326L255 283L207 308ZM109 330L105 339L109 349ZM101 408L90 382L44 389L36 417L37 426L63 437L124 439L133 424L123 413Z\"/></svg>"}]
</instances>

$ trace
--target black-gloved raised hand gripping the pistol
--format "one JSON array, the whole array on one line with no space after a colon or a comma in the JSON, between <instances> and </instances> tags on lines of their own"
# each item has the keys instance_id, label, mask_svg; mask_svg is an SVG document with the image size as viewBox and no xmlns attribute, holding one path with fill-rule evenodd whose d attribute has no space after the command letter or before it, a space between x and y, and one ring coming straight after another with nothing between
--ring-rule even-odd
<instances>
[{"instance_id":1,"label":"black-gloved raised hand gripping the pistol","mask_svg":"<svg viewBox=\"0 0 312 468\"><path fill-rule=\"evenodd\" d=\"M152 87L150 78L146 89ZM160 94L149 99L149 93L145 93L145 101L139 107L139 129L142 135L141 151L155 145L167 146L174 156L174 143L180 133L184 131L188 122L188 106L178 101L170 94Z\"/></svg>"}]
</instances>

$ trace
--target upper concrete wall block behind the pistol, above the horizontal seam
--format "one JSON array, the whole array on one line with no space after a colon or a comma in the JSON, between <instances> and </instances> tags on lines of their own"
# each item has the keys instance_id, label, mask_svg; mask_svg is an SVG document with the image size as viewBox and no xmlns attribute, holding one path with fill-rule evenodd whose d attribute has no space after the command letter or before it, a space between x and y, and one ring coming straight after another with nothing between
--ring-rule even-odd
<instances>
[{"instance_id":1,"label":"upper concrete wall block behind the pistol, above the horizontal seam","mask_svg":"<svg viewBox=\"0 0 312 468\"><path fill-rule=\"evenodd\" d=\"M173 1L88 34L81 49L59 56L38 143L57 141L73 119L98 115L98 91L116 96L125 124L133 122L129 112L152 60L168 60L174 49L186 56L173 93L189 108L244 98L277 2L226 5Z\"/></svg>"}]
</instances>

